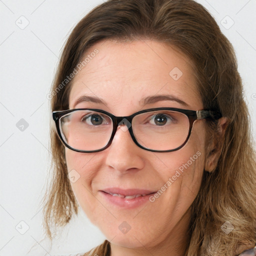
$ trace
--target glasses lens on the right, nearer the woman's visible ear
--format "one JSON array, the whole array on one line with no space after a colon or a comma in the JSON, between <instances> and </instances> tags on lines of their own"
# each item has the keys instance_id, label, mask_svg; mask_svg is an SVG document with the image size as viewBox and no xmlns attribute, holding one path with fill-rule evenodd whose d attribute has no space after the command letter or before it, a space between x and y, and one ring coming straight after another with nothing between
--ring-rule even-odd
<instances>
[{"instance_id":1,"label":"glasses lens on the right, nearer the woman's visible ear","mask_svg":"<svg viewBox=\"0 0 256 256\"><path fill-rule=\"evenodd\" d=\"M134 116L132 130L137 142L143 147L171 150L185 142L189 120L185 114L176 111L145 112Z\"/></svg>"}]
</instances>

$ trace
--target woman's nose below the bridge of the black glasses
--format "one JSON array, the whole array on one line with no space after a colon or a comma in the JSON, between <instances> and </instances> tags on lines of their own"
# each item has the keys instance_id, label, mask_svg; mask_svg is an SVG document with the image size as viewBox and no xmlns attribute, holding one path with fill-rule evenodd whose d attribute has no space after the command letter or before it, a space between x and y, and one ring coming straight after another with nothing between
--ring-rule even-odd
<instances>
[{"instance_id":1,"label":"woman's nose below the bridge of the black glasses","mask_svg":"<svg viewBox=\"0 0 256 256\"><path fill-rule=\"evenodd\" d=\"M126 126L118 126L111 145L106 148L106 165L120 172L144 167L143 149L132 140Z\"/></svg>"}]
</instances>

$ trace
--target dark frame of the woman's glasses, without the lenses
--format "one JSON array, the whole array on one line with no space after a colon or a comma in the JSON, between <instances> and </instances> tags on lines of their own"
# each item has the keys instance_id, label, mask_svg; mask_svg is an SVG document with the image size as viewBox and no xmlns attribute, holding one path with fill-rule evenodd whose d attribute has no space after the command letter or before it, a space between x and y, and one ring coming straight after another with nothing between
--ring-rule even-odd
<instances>
[{"instance_id":1,"label":"dark frame of the woman's glasses, without the lenses","mask_svg":"<svg viewBox=\"0 0 256 256\"><path fill-rule=\"evenodd\" d=\"M112 134L109 138L109 141L107 142L107 144L100 148L100 149L96 149L96 150L79 150L79 149L75 149L71 146L69 146L63 139L62 135L61 135L61 132L60 132L60 127L59 127L59 119L61 116L65 115L65 114L68 114L68 113L71 113L73 111L76 111L76 110L92 110L92 111L97 111L97 112L100 112L100 113L103 113L105 115L108 115L111 119L112 119L112 122L113 122L113 130L112 130ZM140 145L134 134L133 134L133 131L132 131L132 125L130 125L130 127L128 127L128 130L129 130L129 133L130 133L130 136L132 138L132 140L134 141L134 143L139 146L140 148L143 148L145 150L148 150L148 151L152 151L152 152L171 152L171 151L175 151L175 150L178 150L180 149L181 147L183 147L189 136L190 136L190 133L191 133L191 130L192 130L192 126L193 126L193 122L195 120L198 120L198 119L209 119L209 120L217 120L219 119L222 115L219 111L214 111L214 110L189 110L189 109L181 109L181 108L175 108L175 107L157 107L157 108L149 108L149 109L144 109L144 110L141 110L141 111L138 111L138 112L135 112L131 115L128 115L128 116L115 116L107 111L104 111L102 109L97 109L97 108L74 108L74 109L67 109L67 110L61 110L61 111L53 111L52 112L52 117L53 117L53 120L55 121L55 125L56 125L56 129L57 129L57 134L58 134L58 137L60 138L60 140L62 141L62 143L69 149L71 150L74 150L76 152L84 152L84 153L90 153L90 152L98 152L98 151L102 151L104 150L105 148L107 148L108 146L110 146L110 144L112 143L112 140L113 140L113 137L114 137L114 134L117 130L117 127L119 125L126 125L125 122L124 122L124 118L131 124L132 122L132 119L135 115L137 114L140 114L140 113L145 113L145 112L150 112L150 111L155 111L155 110L172 110L172 111L176 111L176 112L180 112L180 113L183 113L185 114L187 117L188 117L188 120L189 120L189 131L188 131L188 134L187 134L187 137L185 139L185 141L178 147L174 148L174 149L170 149L170 150L154 150L154 149L149 149L147 147L144 147L142 145Z\"/></svg>"}]
</instances>

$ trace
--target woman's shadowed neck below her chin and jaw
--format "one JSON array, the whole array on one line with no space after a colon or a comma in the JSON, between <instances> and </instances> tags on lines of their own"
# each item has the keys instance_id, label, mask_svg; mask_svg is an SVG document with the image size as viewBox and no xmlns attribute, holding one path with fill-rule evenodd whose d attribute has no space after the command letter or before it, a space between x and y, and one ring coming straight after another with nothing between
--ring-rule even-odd
<instances>
[{"instance_id":1,"label":"woman's shadowed neck below her chin and jaw","mask_svg":"<svg viewBox=\"0 0 256 256\"><path fill-rule=\"evenodd\" d=\"M127 248L110 243L111 256L184 256L189 240L190 217L191 207L188 208L173 229L168 233L166 232L165 239L153 247L141 244L140 247Z\"/></svg>"}]
</instances>

